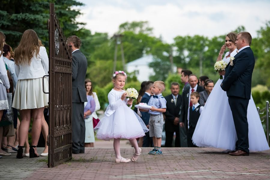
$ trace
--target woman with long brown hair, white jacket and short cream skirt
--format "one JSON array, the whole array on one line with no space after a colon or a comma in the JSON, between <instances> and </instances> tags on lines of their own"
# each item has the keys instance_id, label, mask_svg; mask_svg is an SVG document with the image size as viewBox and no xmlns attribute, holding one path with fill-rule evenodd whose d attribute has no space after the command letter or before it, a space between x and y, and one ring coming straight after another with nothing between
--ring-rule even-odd
<instances>
[{"instance_id":1,"label":"woman with long brown hair, white jacket and short cream skirt","mask_svg":"<svg viewBox=\"0 0 270 180\"><path fill-rule=\"evenodd\" d=\"M23 158L23 145L28 135L31 117L33 119L32 146L29 150L29 158L36 158L39 157L36 145L41 132L43 111L49 101L48 94L44 94L42 90L42 77L48 75L49 59L46 48L32 29L23 33L14 54L18 82L12 107L20 110L21 115L17 158ZM48 89L48 81L44 79L44 91L48 92Z\"/></svg>"}]
</instances>

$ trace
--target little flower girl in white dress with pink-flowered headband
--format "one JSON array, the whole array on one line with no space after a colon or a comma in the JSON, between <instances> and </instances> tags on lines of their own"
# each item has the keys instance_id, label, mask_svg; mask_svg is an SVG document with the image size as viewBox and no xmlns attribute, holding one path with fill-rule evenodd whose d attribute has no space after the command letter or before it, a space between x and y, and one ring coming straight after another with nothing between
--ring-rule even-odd
<instances>
[{"instance_id":1,"label":"little flower girl in white dress with pink-flowered headband","mask_svg":"<svg viewBox=\"0 0 270 180\"><path fill-rule=\"evenodd\" d=\"M94 128L98 139L107 141L114 139L116 163L136 161L141 154L141 148L139 148L136 138L143 137L149 131L142 119L130 108L133 100L126 98L126 93L123 90L125 80L126 73L123 71L114 72L112 78L114 88L108 94L109 106L105 111L105 117ZM128 139L135 149L131 160L120 155L121 138Z\"/></svg>"}]
</instances>

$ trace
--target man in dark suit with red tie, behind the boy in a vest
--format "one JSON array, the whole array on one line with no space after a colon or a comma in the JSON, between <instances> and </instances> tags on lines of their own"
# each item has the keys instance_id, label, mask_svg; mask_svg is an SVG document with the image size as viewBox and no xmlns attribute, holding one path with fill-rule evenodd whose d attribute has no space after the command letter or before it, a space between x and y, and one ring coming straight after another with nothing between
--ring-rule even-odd
<instances>
[{"instance_id":1,"label":"man in dark suit with red tie, behind the boy in a vest","mask_svg":"<svg viewBox=\"0 0 270 180\"><path fill-rule=\"evenodd\" d=\"M179 125L180 125L180 143L181 147L188 147L187 144L187 129L188 121L187 121L187 111L192 103L190 103L190 94L194 91L202 92L205 89L202 86L198 85L198 78L196 75L191 74L189 76L188 82L190 84L190 88L185 88L182 94L182 101L181 101L181 111L179 117Z\"/></svg>"}]
</instances>

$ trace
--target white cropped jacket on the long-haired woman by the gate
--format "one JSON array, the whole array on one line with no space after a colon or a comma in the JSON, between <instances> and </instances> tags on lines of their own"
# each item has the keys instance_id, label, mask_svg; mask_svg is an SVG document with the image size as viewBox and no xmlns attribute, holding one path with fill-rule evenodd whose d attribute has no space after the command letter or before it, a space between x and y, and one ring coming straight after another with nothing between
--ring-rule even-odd
<instances>
[{"instance_id":1,"label":"white cropped jacket on the long-haired woman by the gate","mask_svg":"<svg viewBox=\"0 0 270 180\"><path fill-rule=\"evenodd\" d=\"M16 61L16 59L15 59ZM20 79L37 79L48 75L49 71L49 58L47 55L46 48L40 46L39 53L36 56L34 53L30 65L27 64L15 64L15 72Z\"/></svg>"}]
</instances>

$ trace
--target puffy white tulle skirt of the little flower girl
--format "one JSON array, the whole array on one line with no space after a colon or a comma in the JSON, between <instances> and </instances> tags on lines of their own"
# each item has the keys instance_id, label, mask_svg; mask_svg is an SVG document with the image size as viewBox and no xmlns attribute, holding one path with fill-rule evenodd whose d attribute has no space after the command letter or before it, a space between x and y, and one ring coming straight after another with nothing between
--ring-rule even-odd
<instances>
[{"instance_id":1,"label":"puffy white tulle skirt of the little flower girl","mask_svg":"<svg viewBox=\"0 0 270 180\"><path fill-rule=\"evenodd\" d=\"M94 128L100 140L143 137L149 129L143 120L128 106L120 105L111 116L102 118Z\"/></svg>"}]
</instances>

